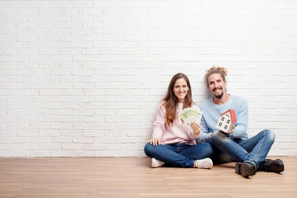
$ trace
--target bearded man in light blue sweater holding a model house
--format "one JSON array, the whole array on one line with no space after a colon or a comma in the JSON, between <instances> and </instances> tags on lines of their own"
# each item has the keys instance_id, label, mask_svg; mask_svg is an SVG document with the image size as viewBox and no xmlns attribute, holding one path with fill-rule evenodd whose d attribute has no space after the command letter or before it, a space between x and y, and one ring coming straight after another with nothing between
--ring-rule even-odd
<instances>
[{"instance_id":1,"label":"bearded man in light blue sweater holding a model house","mask_svg":"<svg viewBox=\"0 0 297 198\"><path fill-rule=\"evenodd\" d=\"M252 138L247 134L247 101L241 97L226 93L227 81L225 76L227 69L223 67L211 67L206 71L205 80L207 89L213 94L213 98L204 101L200 108L203 112L201 119L201 135L196 140L198 143L210 142L217 152L214 160L218 162L236 163L235 172L247 177L256 171L282 172L284 162L281 159L265 159L272 144L275 134L265 129ZM220 115L229 109L234 109L237 122L230 133L216 129Z\"/></svg>"}]
</instances>

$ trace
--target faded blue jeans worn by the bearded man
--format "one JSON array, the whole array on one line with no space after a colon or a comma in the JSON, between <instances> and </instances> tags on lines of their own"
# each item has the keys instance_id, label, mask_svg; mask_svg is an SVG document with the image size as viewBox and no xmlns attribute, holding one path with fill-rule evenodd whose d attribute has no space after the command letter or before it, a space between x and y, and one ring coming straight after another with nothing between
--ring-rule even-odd
<instances>
[{"instance_id":1,"label":"faded blue jeans worn by the bearded man","mask_svg":"<svg viewBox=\"0 0 297 198\"><path fill-rule=\"evenodd\" d=\"M246 140L230 139L227 134L221 131L215 131L211 138L210 144L218 152L214 153L214 161L218 162L250 162L258 170L274 143L275 134L269 129L265 129L257 135Z\"/></svg>"}]
</instances>

